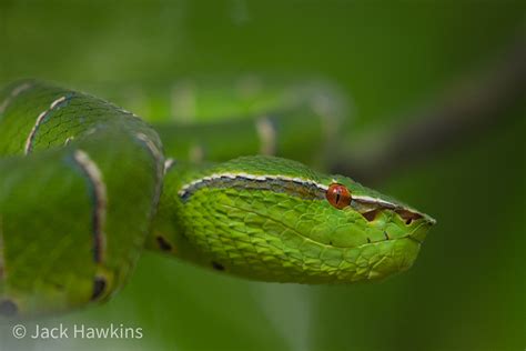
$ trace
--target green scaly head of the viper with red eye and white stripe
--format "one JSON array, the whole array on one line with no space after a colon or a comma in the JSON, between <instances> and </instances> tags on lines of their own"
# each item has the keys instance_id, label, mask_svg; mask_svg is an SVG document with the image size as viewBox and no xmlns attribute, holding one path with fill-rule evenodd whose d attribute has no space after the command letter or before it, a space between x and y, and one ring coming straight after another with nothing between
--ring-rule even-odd
<instances>
[{"instance_id":1,"label":"green scaly head of the viper with red eye and white stripe","mask_svg":"<svg viewBox=\"0 0 526 351\"><path fill-rule=\"evenodd\" d=\"M382 279L413 264L435 223L350 178L280 158L239 158L199 174L175 173L175 191L165 195L176 198L192 260L249 279Z\"/></svg>"}]
</instances>

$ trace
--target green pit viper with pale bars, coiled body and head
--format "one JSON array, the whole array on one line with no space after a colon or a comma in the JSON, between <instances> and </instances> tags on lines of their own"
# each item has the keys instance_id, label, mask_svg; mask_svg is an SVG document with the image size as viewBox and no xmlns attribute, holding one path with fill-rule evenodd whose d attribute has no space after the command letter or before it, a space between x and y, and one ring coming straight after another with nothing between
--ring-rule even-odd
<instances>
[{"instance_id":1,"label":"green pit viper with pale bars, coiled body and head","mask_svg":"<svg viewBox=\"0 0 526 351\"><path fill-rule=\"evenodd\" d=\"M347 177L271 156L314 151L299 138L315 138L323 113L312 89L299 91L282 99L290 118L265 111L153 129L90 94L34 80L6 87L0 313L24 318L105 301L144 248L271 282L351 283L408 269L431 217ZM224 139L195 144L203 134ZM226 160L236 142L252 156ZM182 157L203 153L221 162Z\"/></svg>"}]
</instances>

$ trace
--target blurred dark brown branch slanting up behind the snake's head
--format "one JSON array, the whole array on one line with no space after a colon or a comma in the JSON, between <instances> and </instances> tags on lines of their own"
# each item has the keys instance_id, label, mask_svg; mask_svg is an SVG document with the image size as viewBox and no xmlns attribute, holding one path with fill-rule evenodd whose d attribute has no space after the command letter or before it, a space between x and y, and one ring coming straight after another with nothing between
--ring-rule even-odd
<instances>
[{"instance_id":1,"label":"blurred dark brown branch slanting up behind the snake's head","mask_svg":"<svg viewBox=\"0 0 526 351\"><path fill-rule=\"evenodd\" d=\"M390 177L398 168L436 157L475 136L493 131L517 118L508 113L526 92L526 38L520 37L505 54L476 76L453 84L429 108L405 127L373 134L340 154L332 171L350 174L368 184ZM523 117L524 118L524 117Z\"/></svg>"}]
</instances>

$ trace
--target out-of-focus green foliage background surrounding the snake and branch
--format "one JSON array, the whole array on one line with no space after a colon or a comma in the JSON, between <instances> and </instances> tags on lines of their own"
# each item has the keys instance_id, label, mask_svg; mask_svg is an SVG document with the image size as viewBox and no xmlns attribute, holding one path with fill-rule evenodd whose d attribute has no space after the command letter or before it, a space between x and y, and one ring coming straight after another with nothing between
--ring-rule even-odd
<instances>
[{"instance_id":1,"label":"out-of-focus green foliage background surrounding the snake and branch","mask_svg":"<svg viewBox=\"0 0 526 351\"><path fill-rule=\"evenodd\" d=\"M352 103L347 133L360 136L406 123L484 67L524 34L525 10L522 1L1 0L0 82L36 77L97 93L198 76L322 77ZM403 274L269 284L145 253L108 304L41 321L122 323L142 328L142 339L18 341L4 324L0 349L524 350L524 101L498 128L377 185L438 220Z\"/></svg>"}]
</instances>

